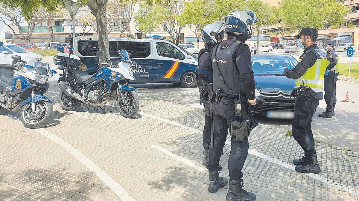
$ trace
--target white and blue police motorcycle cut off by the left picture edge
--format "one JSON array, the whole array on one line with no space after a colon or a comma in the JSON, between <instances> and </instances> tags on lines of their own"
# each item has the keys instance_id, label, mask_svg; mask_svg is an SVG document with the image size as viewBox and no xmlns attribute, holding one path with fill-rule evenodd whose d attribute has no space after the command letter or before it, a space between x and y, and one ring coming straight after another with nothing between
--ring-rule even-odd
<instances>
[{"instance_id":1,"label":"white and blue police motorcycle cut off by the left picture edge","mask_svg":"<svg viewBox=\"0 0 359 201\"><path fill-rule=\"evenodd\" d=\"M3 43L0 42L0 46ZM53 75L48 63L24 62L18 55L12 59L24 63L20 70L0 68L0 114L20 109L21 122L26 128L41 128L49 123L53 107L45 92Z\"/></svg>"}]
</instances>

